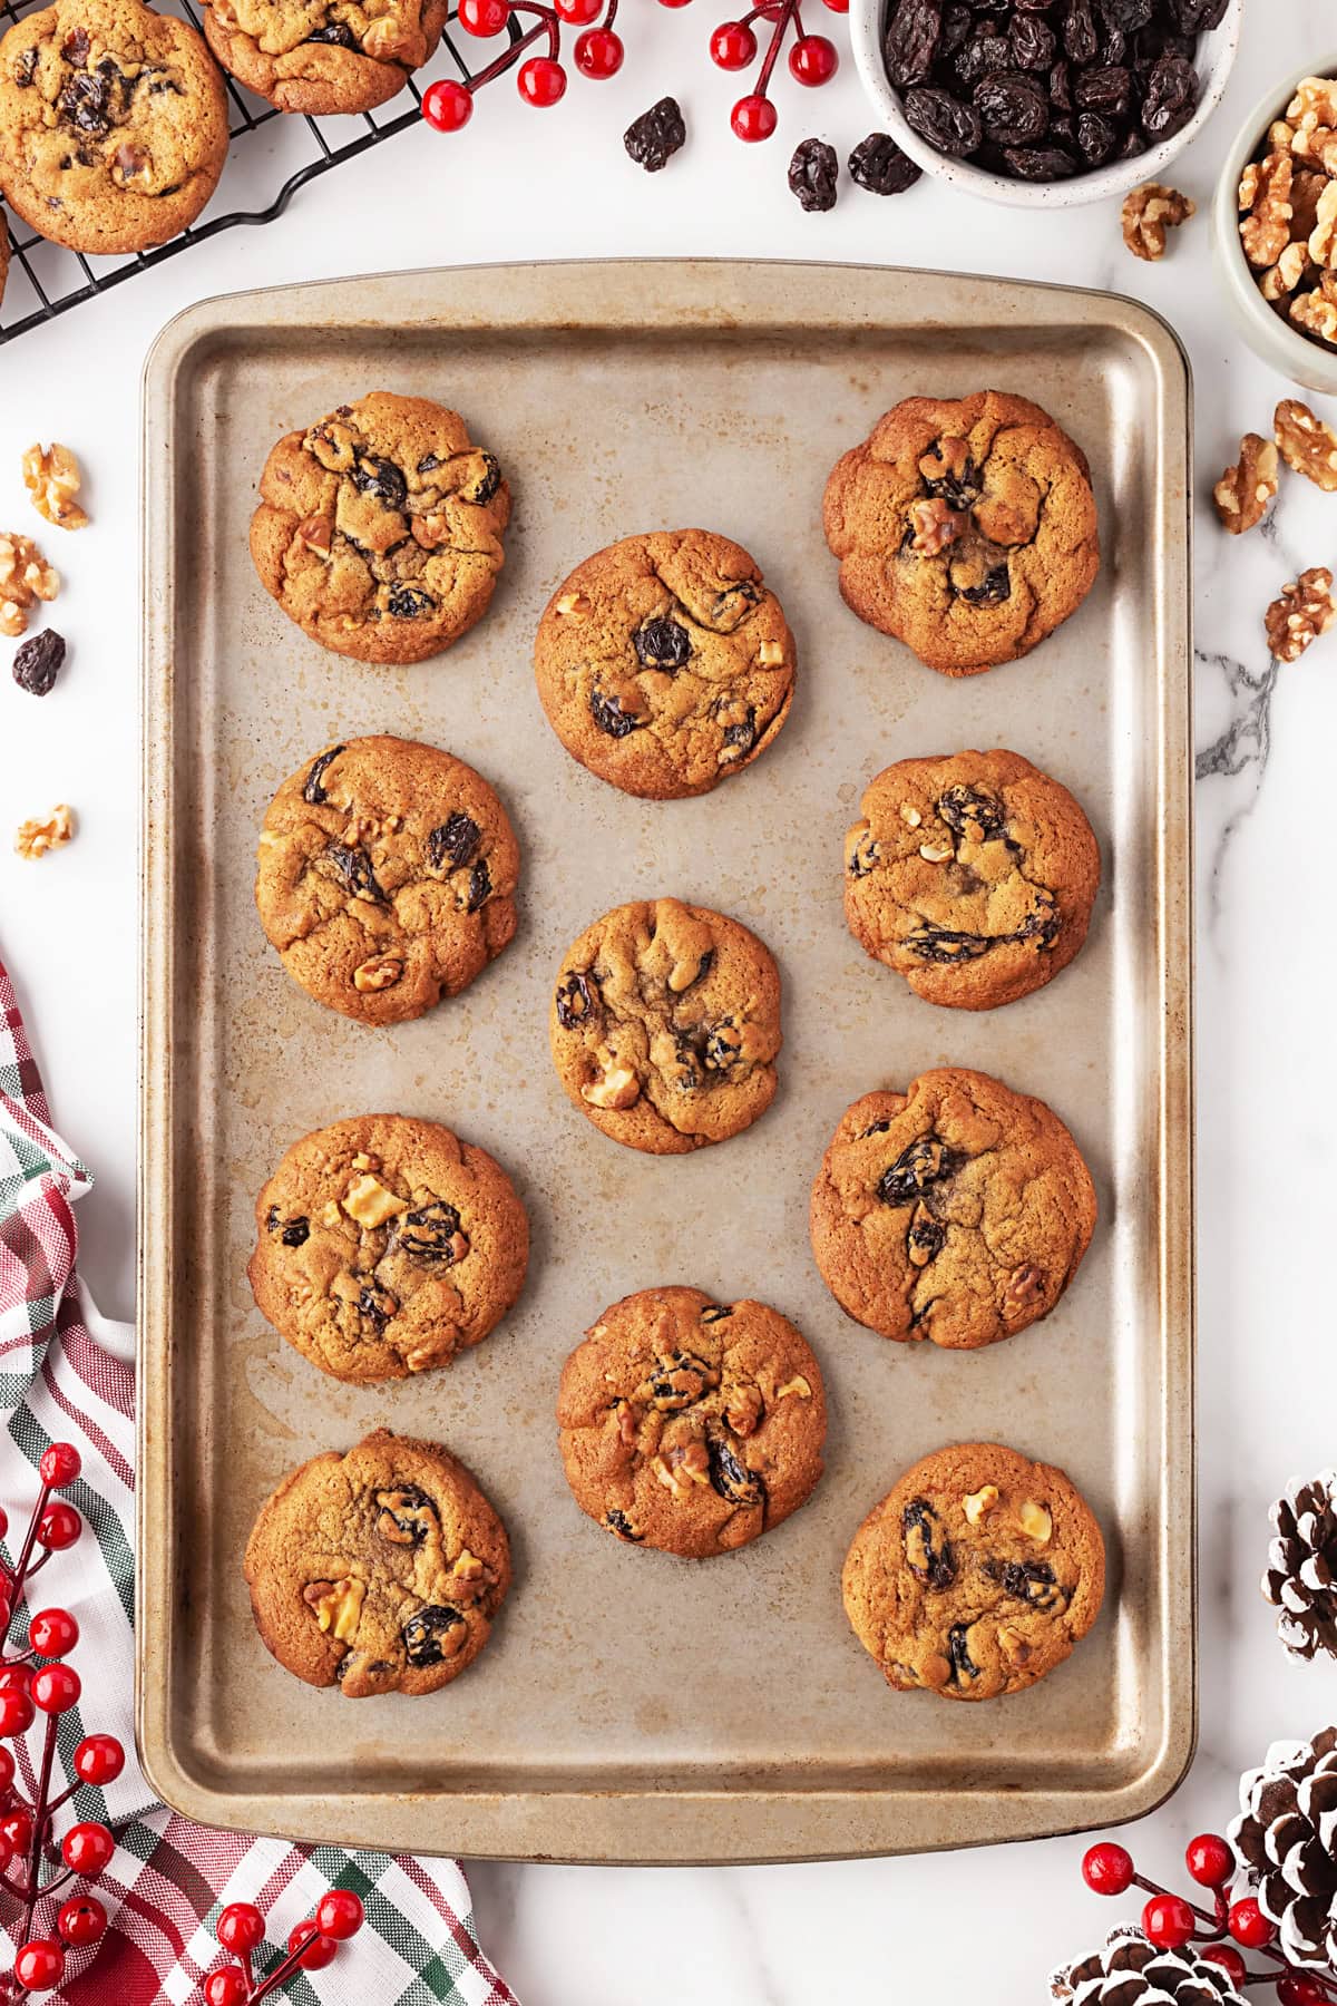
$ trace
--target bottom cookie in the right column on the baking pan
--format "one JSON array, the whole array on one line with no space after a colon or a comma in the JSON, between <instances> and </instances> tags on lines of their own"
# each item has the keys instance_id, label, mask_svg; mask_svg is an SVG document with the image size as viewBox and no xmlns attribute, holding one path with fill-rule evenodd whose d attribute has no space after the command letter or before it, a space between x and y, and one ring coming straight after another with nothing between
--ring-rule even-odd
<instances>
[{"instance_id":1,"label":"bottom cookie in the right column on the baking pan","mask_svg":"<svg viewBox=\"0 0 1337 2006\"><path fill-rule=\"evenodd\" d=\"M888 1685L998 1699L1086 1635L1104 1597L1104 1541L1062 1470L998 1442L958 1442L874 1504L842 1591Z\"/></svg>"}]
</instances>

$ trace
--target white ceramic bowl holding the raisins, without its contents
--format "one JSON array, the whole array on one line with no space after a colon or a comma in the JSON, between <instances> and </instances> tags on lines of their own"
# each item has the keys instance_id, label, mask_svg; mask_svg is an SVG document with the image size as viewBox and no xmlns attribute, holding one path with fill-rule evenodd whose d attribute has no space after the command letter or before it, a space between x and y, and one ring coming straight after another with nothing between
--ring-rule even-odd
<instances>
[{"instance_id":1,"label":"white ceramic bowl holding the raisins, without its contents","mask_svg":"<svg viewBox=\"0 0 1337 2006\"><path fill-rule=\"evenodd\" d=\"M1229 0L1221 26L1211 28L1199 40L1201 92L1193 118L1159 146L1139 152L1135 160L1110 160L1108 166L1092 166L1084 175L1072 175L1070 181L1012 181L1008 175L990 175L968 160L950 160L918 132L912 132L900 108L900 92L888 82L882 62L888 0L850 0L850 40L864 90L878 114L878 128L890 132L926 175L936 175L938 181L946 181L952 189L964 189L966 195L982 195L988 203L1006 203L1012 209L1076 209L1078 203L1104 203L1110 197L1125 197L1129 189L1139 189L1145 181L1159 181L1195 132L1201 132L1221 102L1235 64L1243 6L1245 0Z\"/></svg>"}]
</instances>

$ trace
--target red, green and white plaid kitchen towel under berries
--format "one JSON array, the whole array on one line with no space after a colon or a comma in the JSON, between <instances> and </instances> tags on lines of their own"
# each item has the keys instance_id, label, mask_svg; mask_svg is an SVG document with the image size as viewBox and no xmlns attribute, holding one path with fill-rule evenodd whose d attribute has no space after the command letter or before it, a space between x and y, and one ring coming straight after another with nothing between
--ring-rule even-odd
<instances>
[{"instance_id":1,"label":"red, green and white plaid kitchen towel under berries","mask_svg":"<svg viewBox=\"0 0 1337 2006\"><path fill-rule=\"evenodd\" d=\"M114 1733L126 1767L106 1789L80 1787L58 1829L94 1817L116 1833L116 1856L98 1878L110 1928L96 1956L72 1952L64 2006L186 2006L222 1960L212 1924L227 1902L257 1902L269 1940L257 1972L273 1970L295 1922L327 1888L353 1888L367 1926L323 1972L289 1984L299 2006L515 2006L473 1936L469 1886L455 1860L289 1846L208 1831L154 1803L134 1761L134 1368L126 1326L106 1324L74 1274L74 1200L90 1178L50 1127L10 977L0 963L0 1412L12 1450L0 1454L0 1504L8 1539L22 1539L38 1490L36 1464L52 1440L74 1442L84 1468L64 1492L82 1513L84 1537L52 1555L40 1577L42 1607L60 1603L80 1625L72 1657L84 1699L60 1721L66 1779L84 1733ZM4 1547L6 1561L14 1555ZM28 1609L14 1611L22 1635ZM14 1743L20 1779L34 1787L32 1747ZM18 1916L0 1918L6 1930ZM38 1912L38 1930L50 1914ZM0 1946L2 1948L2 1946Z\"/></svg>"}]
</instances>

